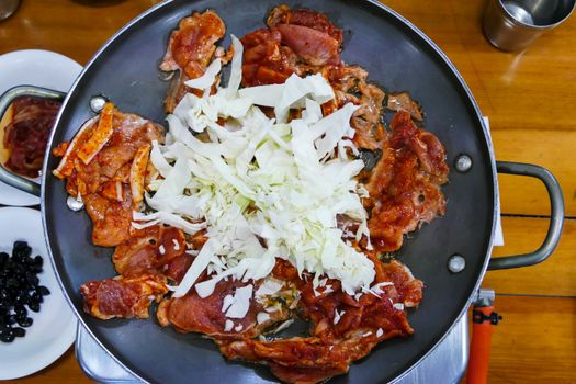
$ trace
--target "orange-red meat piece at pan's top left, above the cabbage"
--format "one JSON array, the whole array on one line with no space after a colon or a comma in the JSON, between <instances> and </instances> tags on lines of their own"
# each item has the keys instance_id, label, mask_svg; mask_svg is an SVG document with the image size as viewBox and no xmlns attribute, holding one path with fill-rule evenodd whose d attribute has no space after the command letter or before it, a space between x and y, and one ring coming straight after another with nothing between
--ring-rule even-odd
<instances>
[{"instance_id":1,"label":"orange-red meat piece at pan's top left, above the cabbage","mask_svg":"<svg viewBox=\"0 0 576 384\"><path fill-rule=\"evenodd\" d=\"M224 22L213 11L196 12L180 20L178 30L170 35L168 49L160 64L160 70L179 71L165 99L168 113L174 110L187 92L192 91L184 82L204 74L216 50L216 42L224 37L225 31Z\"/></svg>"}]
</instances>

